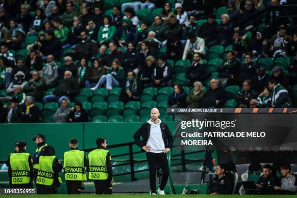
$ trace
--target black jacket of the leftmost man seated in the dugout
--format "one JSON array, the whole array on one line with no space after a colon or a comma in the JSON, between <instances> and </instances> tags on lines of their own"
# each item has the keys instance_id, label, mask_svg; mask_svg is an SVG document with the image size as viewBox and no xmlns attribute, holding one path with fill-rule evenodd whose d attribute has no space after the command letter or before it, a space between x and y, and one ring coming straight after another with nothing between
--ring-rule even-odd
<instances>
[{"instance_id":1,"label":"black jacket of the leftmost man seated in the dugout","mask_svg":"<svg viewBox=\"0 0 297 198\"><path fill-rule=\"evenodd\" d=\"M231 195L233 187L234 182L231 173L226 172L223 177L218 178L218 176L215 176L215 178L210 181L207 194L217 193L219 195Z\"/></svg>"}]
</instances>

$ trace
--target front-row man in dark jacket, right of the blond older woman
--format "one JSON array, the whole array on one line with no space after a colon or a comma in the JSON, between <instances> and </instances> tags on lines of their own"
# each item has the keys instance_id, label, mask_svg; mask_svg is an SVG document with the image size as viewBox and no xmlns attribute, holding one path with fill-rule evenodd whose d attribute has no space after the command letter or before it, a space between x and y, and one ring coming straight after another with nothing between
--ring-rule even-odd
<instances>
[{"instance_id":1,"label":"front-row man in dark jacket, right of the blond older woman","mask_svg":"<svg viewBox=\"0 0 297 198\"><path fill-rule=\"evenodd\" d=\"M218 86L218 80L212 79L205 98L201 101L201 107L220 108L225 104L226 100L225 89Z\"/></svg>"}]
</instances>

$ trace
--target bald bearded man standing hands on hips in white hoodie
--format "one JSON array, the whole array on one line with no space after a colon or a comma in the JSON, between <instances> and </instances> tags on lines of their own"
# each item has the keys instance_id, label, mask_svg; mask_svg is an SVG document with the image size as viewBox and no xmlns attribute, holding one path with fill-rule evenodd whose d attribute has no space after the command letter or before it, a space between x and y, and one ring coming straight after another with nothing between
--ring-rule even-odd
<instances>
[{"instance_id":1,"label":"bald bearded man standing hands on hips in white hoodie","mask_svg":"<svg viewBox=\"0 0 297 198\"><path fill-rule=\"evenodd\" d=\"M168 126L159 119L157 108L150 111L150 117L146 123L135 132L133 138L142 151L147 152L149 169L149 186L152 195L156 195L156 164L161 166L163 176L158 193L165 195L164 188L169 176L169 167L166 153L172 148L172 134ZM140 137L142 136L142 140Z\"/></svg>"}]
</instances>

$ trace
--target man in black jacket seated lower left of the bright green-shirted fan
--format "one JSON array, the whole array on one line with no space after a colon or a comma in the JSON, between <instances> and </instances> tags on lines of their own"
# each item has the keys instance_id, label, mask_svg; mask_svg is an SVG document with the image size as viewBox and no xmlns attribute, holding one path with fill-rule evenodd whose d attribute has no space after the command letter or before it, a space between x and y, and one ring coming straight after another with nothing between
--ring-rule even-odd
<instances>
[{"instance_id":1,"label":"man in black jacket seated lower left of the bright green-shirted fan","mask_svg":"<svg viewBox=\"0 0 297 198\"><path fill-rule=\"evenodd\" d=\"M98 52L97 44L96 42L89 39L88 31L82 30L80 38L81 41L77 43L74 49L75 58L77 60L80 60L82 59L82 57L87 57L89 59L95 57L96 53Z\"/></svg>"}]
</instances>

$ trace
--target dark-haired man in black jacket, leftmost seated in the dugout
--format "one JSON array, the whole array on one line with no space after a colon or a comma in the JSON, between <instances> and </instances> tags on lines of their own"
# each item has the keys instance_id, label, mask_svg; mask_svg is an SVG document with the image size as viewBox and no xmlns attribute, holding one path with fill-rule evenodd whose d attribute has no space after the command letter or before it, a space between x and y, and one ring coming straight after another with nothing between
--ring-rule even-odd
<instances>
[{"instance_id":1,"label":"dark-haired man in black jacket, leftmost seated in the dugout","mask_svg":"<svg viewBox=\"0 0 297 198\"><path fill-rule=\"evenodd\" d=\"M226 172L225 164L218 164L215 168L216 176L210 181L207 194L210 195L231 195L234 182L231 173Z\"/></svg>"}]
</instances>

